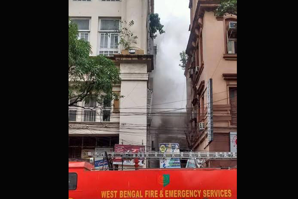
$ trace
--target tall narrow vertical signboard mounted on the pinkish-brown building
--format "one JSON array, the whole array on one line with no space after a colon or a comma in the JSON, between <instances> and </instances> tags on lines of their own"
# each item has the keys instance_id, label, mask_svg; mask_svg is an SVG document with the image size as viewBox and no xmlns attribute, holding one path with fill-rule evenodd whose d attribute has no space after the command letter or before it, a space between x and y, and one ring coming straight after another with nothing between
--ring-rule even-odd
<instances>
[{"instance_id":1,"label":"tall narrow vertical signboard mounted on the pinkish-brown building","mask_svg":"<svg viewBox=\"0 0 298 199\"><path fill-rule=\"evenodd\" d=\"M213 141L213 89L212 79L207 84L207 136L208 143Z\"/></svg>"}]
</instances>

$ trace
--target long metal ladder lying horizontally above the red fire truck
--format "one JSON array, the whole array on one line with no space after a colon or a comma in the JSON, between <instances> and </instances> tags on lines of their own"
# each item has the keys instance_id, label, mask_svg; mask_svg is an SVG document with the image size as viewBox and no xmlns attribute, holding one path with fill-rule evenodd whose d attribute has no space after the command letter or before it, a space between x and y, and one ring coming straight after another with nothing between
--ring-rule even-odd
<instances>
[{"instance_id":1,"label":"long metal ladder lying horizontally above the red fire truck","mask_svg":"<svg viewBox=\"0 0 298 199\"><path fill-rule=\"evenodd\" d=\"M100 157L100 158L150 158L150 159L163 159L163 158L179 158L187 160L190 158L199 159L224 159L224 160L236 160L237 152L174 152L174 153L162 153L162 152L88 152L88 156Z\"/></svg>"}]
</instances>

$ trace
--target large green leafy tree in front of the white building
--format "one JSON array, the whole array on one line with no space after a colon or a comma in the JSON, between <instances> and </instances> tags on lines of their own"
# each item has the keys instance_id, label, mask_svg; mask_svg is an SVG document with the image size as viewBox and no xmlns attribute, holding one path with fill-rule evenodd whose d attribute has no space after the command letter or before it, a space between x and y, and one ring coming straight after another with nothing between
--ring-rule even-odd
<instances>
[{"instance_id":1,"label":"large green leafy tree in front of the white building","mask_svg":"<svg viewBox=\"0 0 298 199\"><path fill-rule=\"evenodd\" d=\"M121 81L119 69L112 60L102 55L90 57L90 54L89 42L78 39L77 26L69 19L69 106L91 98L99 104L104 99L118 98L112 88Z\"/></svg>"}]
</instances>

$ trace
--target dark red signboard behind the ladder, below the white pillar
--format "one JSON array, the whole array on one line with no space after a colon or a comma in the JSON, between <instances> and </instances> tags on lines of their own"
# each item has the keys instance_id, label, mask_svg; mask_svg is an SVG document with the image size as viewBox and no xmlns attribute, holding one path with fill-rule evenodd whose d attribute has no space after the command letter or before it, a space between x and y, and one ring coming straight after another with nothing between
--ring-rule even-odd
<instances>
[{"instance_id":1,"label":"dark red signboard behind the ladder, below the white pillar","mask_svg":"<svg viewBox=\"0 0 298 199\"><path fill-rule=\"evenodd\" d=\"M145 146L115 144L115 152L145 152ZM121 158L114 158L114 165L122 165ZM123 165L135 165L134 159L123 159ZM139 165L143 166L143 159L139 159Z\"/></svg>"}]
</instances>

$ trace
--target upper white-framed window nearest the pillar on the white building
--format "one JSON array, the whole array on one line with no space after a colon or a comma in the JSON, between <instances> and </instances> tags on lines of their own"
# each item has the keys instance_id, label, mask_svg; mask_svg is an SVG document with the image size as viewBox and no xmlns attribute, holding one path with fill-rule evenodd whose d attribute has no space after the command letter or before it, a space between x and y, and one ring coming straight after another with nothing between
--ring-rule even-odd
<instances>
[{"instance_id":1,"label":"upper white-framed window nearest the pillar on the white building","mask_svg":"<svg viewBox=\"0 0 298 199\"><path fill-rule=\"evenodd\" d=\"M118 54L119 44L119 19L99 19L99 50L98 54L112 56Z\"/></svg>"}]
</instances>

